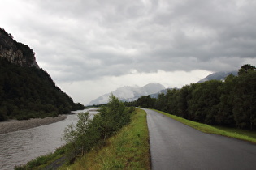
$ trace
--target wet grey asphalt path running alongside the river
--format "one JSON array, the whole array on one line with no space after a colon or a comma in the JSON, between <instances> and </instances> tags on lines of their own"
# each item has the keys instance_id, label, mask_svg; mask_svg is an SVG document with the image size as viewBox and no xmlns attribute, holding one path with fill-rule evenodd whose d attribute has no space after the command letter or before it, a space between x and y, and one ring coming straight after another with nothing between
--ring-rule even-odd
<instances>
[{"instance_id":1,"label":"wet grey asphalt path running alongside the river","mask_svg":"<svg viewBox=\"0 0 256 170\"><path fill-rule=\"evenodd\" d=\"M256 169L256 145L202 133L161 113L144 110L152 169Z\"/></svg>"}]
</instances>

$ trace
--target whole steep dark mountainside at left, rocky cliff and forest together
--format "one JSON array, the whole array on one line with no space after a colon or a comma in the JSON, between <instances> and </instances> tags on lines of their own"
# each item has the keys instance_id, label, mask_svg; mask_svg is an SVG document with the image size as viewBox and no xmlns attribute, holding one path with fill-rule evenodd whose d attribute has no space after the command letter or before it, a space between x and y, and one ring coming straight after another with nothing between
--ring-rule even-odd
<instances>
[{"instance_id":1,"label":"whole steep dark mountainside at left, rocky cliff and forest together","mask_svg":"<svg viewBox=\"0 0 256 170\"><path fill-rule=\"evenodd\" d=\"M0 121L58 116L84 108L39 68L33 50L0 28Z\"/></svg>"}]
</instances>

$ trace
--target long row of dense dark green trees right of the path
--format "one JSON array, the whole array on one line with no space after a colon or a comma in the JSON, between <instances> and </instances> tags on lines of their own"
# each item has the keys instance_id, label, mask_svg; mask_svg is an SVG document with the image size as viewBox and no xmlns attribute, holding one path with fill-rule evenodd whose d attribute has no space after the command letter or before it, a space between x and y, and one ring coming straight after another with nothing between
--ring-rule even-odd
<instances>
[{"instance_id":1,"label":"long row of dense dark green trees right of the path","mask_svg":"<svg viewBox=\"0 0 256 170\"><path fill-rule=\"evenodd\" d=\"M191 83L159 94L157 99L141 96L126 104L155 108L210 125L253 130L256 129L256 69L244 65L237 76L230 74L224 81Z\"/></svg>"}]
</instances>

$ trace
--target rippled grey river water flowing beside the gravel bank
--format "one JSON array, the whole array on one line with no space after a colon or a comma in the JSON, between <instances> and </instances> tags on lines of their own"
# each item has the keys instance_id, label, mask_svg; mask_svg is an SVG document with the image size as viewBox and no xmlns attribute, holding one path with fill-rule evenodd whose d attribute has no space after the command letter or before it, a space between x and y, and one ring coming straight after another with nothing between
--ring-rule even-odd
<instances>
[{"instance_id":1,"label":"rippled grey river water flowing beside the gravel bank","mask_svg":"<svg viewBox=\"0 0 256 170\"><path fill-rule=\"evenodd\" d=\"M79 112L87 112L88 109ZM89 111L93 115L97 112ZM63 131L70 124L78 121L77 114L67 115L63 121L50 125L41 125L28 130L19 130L0 134L0 169L14 169L15 165L26 164L40 155L54 152L65 144Z\"/></svg>"}]
</instances>

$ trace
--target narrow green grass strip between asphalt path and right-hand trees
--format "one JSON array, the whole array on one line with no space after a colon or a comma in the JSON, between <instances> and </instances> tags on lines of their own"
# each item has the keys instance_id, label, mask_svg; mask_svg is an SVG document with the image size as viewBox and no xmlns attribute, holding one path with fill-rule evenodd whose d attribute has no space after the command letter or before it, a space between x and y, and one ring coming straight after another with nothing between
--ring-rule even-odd
<instances>
[{"instance_id":1,"label":"narrow green grass strip between asphalt path and right-hand trees","mask_svg":"<svg viewBox=\"0 0 256 170\"><path fill-rule=\"evenodd\" d=\"M198 123L195 121L189 121L182 117L177 117L175 115L171 115L169 113L164 113L164 112L161 112L158 110L154 110L154 111L157 111L158 113L162 113L162 114L166 115L167 117L171 117L172 119L175 119L176 121L180 121L181 123L184 123L185 125L189 125L189 126L193 127L194 129L200 130L205 133L219 134L219 135L227 136L230 138L238 138L238 139L245 140L248 142L256 143L256 132L255 131L238 130L235 128L224 128L224 127L220 127L220 126L211 126L211 125L206 125L203 123Z\"/></svg>"}]
</instances>

